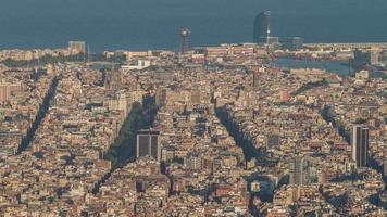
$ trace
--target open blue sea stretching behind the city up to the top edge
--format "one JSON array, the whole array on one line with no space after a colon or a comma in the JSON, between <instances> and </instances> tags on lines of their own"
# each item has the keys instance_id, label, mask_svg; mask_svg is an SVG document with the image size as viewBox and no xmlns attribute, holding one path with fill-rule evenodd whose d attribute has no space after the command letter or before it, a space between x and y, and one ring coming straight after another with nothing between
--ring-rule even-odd
<instances>
[{"instance_id":1,"label":"open blue sea stretching behind the city up to the top edge","mask_svg":"<svg viewBox=\"0 0 387 217\"><path fill-rule=\"evenodd\" d=\"M180 27L194 46L248 42L262 10L276 36L387 41L387 0L1 0L0 48L176 49Z\"/></svg>"}]
</instances>

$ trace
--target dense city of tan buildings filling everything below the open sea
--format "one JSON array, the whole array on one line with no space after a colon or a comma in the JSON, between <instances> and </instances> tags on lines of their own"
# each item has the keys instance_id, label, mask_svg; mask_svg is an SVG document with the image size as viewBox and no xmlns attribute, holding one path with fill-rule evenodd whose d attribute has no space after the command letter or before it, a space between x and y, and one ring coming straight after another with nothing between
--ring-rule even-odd
<instances>
[{"instance_id":1,"label":"dense city of tan buildings filling everything below the open sea","mask_svg":"<svg viewBox=\"0 0 387 217\"><path fill-rule=\"evenodd\" d=\"M174 50L0 50L0 216L386 216L387 42L275 25L258 11L253 42L219 46L185 25Z\"/></svg>"}]
</instances>

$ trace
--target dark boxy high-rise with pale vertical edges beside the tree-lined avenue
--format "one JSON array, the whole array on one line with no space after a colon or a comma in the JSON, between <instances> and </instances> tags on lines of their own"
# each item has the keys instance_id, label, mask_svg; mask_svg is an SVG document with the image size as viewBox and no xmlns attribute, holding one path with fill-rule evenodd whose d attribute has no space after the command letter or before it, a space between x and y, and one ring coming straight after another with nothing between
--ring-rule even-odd
<instances>
[{"instance_id":1,"label":"dark boxy high-rise with pale vertical edges beside the tree-lined avenue","mask_svg":"<svg viewBox=\"0 0 387 217\"><path fill-rule=\"evenodd\" d=\"M161 146L159 131L139 130L136 141L136 157L150 156L161 161Z\"/></svg>"}]
</instances>

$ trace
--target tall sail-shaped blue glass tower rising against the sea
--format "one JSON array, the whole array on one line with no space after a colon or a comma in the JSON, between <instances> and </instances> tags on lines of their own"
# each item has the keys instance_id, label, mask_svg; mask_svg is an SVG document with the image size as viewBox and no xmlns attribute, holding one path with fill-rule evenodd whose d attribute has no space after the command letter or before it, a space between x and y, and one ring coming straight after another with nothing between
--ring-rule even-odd
<instances>
[{"instance_id":1,"label":"tall sail-shaped blue glass tower rising against the sea","mask_svg":"<svg viewBox=\"0 0 387 217\"><path fill-rule=\"evenodd\" d=\"M262 11L259 13L254 21L254 35L253 42L266 43L267 37L270 37L270 12Z\"/></svg>"}]
</instances>

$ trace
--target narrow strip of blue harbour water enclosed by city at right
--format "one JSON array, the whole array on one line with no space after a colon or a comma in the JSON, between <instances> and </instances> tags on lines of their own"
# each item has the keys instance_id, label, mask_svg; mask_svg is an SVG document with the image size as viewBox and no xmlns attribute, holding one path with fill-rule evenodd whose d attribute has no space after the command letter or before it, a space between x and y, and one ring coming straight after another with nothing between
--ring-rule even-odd
<instances>
[{"instance_id":1,"label":"narrow strip of blue harbour water enclosed by city at right","mask_svg":"<svg viewBox=\"0 0 387 217\"><path fill-rule=\"evenodd\" d=\"M349 73L346 62L340 61L310 61L310 60L295 60L295 59L278 59L272 62L274 66L288 69L299 68L319 68L328 73L337 73L339 75L347 75Z\"/></svg>"}]
</instances>

